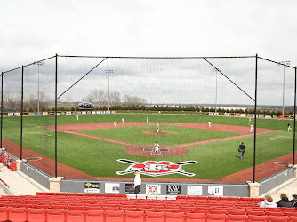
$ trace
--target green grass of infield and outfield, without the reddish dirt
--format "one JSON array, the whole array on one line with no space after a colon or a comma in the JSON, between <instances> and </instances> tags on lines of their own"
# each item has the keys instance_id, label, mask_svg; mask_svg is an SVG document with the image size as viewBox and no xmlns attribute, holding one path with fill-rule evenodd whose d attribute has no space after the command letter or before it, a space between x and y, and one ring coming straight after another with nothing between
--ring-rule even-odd
<instances>
[{"instance_id":1,"label":"green grass of infield and outfield, without the reddish dirt","mask_svg":"<svg viewBox=\"0 0 297 222\"><path fill-rule=\"evenodd\" d=\"M58 116L58 124L71 123L112 123L125 122L173 122L173 123L207 123L247 126L248 118L205 116L205 115L80 115L76 121L75 115ZM23 121L23 147L54 159L54 131L45 130L39 126L54 125L54 116L25 116ZM284 130L288 121L274 119L258 119L257 125L261 128ZM293 126L293 122L291 125ZM3 137L20 144L20 117L4 117ZM150 128L151 127L151 128ZM135 144L149 145L158 140L164 145L177 145L187 142L215 139L230 136L233 133L223 131L204 131L182 127L162 126L161 131L172 131L171 135L147 135L142 131L156 131L156 126L126 127L114 129L100 129L82 131L91 135L117 139ZM169 137L171 136L171 137ZM276 139L271 139L276 138ZM246 145L245 158L239 159L238 145ZM195 160L197 164L185 165L183 170L194 172L192 178L218 179L245 170L253 166L253 136L244 139L232 139L211 144L188 147L187 155L171 157L144 157L129 155L124 152L126 147L97 139L88 139L75 135L58 132L58 161L77 170L81 170L94 177L128 177L116 175L129 165L118 163L117 159L126 158L138 162L147 160L167 160L173 163ZM257 164L265 163L278 156L293 152L293 132L277 131L257 136ZM145 177L145 176L144 176ZM179 174L160 178L188 178Z\"/></svg>"}]
</instances>

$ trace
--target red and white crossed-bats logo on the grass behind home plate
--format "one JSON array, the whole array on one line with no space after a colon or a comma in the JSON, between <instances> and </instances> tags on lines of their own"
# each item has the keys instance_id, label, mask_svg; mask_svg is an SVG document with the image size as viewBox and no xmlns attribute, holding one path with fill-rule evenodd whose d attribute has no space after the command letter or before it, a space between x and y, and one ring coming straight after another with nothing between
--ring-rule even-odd
<instances>
[{"instance_id":1,"label":"red and white crossed-bats logo on the grass behind home plate","mask_svg":"<svg viewBox=\"0 0 297 222\"><path fill-rule=\"evenodd\" d=\"M127 159L118 159L116 160L121 163L129 163L130 166L124 171L117 171L117 175L124 175L127 173L133 173L135 170L139 170L140 174L148 175L151 177L165 176L169 174L179 173L187 177L193 177L196 174L186 172L181 169L182 165L197 163L197 161L184 161L179 163L172 163L170 161L145 161L145 162L136 162Z\"/></svg>"}]
</instances>

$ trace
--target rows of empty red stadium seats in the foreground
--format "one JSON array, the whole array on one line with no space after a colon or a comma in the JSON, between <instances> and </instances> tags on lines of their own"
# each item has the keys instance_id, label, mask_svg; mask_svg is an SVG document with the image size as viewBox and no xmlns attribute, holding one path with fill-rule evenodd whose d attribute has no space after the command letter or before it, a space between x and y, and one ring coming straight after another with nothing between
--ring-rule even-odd
<instances>
[{"instance_id":1,"label":"rows of empty red stadium seats in the foreground","mask_svg":"<svg viewBox=\"0 0 297 222\"><path fill-rule=\"evenodd\" d=\"M178 196L129 199L125 194L36 193L1 196L1 221L249 222L297 221L294 208L262 209L261 198Z\"/></svg>"}]
</instances>

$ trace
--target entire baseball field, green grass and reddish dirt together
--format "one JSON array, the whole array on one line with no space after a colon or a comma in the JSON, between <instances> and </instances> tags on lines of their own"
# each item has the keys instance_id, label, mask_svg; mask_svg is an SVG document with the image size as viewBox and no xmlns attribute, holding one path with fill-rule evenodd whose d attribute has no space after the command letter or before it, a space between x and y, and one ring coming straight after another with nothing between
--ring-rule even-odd
<instances>
[{"instance_id":1,"label":"entire baseball field, green grass and reddish dirt together","mask_svg":"<svg viewBox=\"0 0 297 222\"><path fill-rule=\"evenodd\" d=\"M144 173L142 178L229 183L244 183L253 178L254 137L249 127L254 124L253 119L249 123L247 117L157 113L78 117L77 120L76 115L58 115L58 176L127 179L134 176L124 170L151 161L182 166L178 173L167 167L169 173L157 177ZM293 126L291 120L257 119L257 180L285 169L275 162L292 163L293 131L287 131L288 122ZM52 176L54 123L53 115L24 116L22 130L22 158L40 157L28 163ZM152 152L156 141L161 149L158 154ZM246 149L245 157L240 159L237 149L242 142ZM20 157L20 116L4 117L3 143L8 152Z\"/></svg>"}]
</instances>

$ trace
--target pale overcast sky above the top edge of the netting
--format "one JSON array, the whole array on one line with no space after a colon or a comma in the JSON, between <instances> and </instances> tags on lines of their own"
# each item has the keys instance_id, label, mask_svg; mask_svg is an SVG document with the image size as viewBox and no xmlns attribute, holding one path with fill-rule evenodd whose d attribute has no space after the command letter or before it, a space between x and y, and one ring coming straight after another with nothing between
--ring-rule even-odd
<instances>
[{"instance_id":1,"label":"pale overcast sky above the top edge of the netting","mask_svg":"<svg viewBox=\"0 0 297 222\"><path fill-rule=\"evenodd\" d=\"M1 1L0 71L59 55L259 56L297 65L295 0Z\"/></svg>"}]
</instances>

